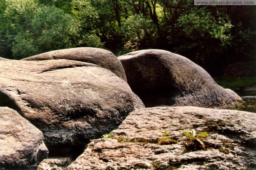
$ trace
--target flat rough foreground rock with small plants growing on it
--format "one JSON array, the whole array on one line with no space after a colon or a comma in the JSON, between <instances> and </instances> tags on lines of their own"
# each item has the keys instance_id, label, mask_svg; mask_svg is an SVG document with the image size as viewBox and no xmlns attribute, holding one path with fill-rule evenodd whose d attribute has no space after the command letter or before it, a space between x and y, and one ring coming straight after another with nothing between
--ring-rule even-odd
<instances>
[{"instance_id":1,"label":"flat rough foreground rock with small plants growing on it","mask_svg":"<svg viewBox=\"0 0 256 170\"><path fill-rule=\"evenodd\" d=\"M183 132L191 127L205 150L190 150ZM176 144L157 144L164 132ZM199 107L152 107L131 112L112 138L88 144L68 170L256 169L256 115ZM191 143L190 143L191 144Z\"/></svg>"}]
</instances>

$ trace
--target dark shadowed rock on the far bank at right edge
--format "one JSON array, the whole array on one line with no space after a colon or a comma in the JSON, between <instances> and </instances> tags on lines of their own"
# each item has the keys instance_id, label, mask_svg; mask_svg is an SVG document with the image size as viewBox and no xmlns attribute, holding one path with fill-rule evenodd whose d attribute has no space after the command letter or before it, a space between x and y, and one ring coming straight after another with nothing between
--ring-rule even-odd
<instances>
[{"instance_id":1,"label":"dark shadowed rock on the far bank at right edge","mask_svg":"<svg viewBox=\"0 0 256 170\"><path fill-rule=\"evenodd\" d=\"M224 69L224 73L234 77L254 76L256 64L255 62L232 63Z\"/></svg>"}]
</instances>

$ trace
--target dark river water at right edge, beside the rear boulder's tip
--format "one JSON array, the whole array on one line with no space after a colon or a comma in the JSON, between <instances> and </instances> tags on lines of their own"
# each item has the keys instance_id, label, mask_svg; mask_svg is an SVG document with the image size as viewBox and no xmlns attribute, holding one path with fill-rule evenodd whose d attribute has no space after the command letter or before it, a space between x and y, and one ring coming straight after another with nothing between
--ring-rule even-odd
<instances>
[{"instance_id":1,"label":"dark river water at right edge, beside the rear boulder's tip","mask_svg":"<svg viewBox=\"0 0 256 170\"><path fill-rule=\"evenodd\" d=\"M244 101L238 110L256 113L256 92L236 92Z\"/></svg>"}]
</instances>

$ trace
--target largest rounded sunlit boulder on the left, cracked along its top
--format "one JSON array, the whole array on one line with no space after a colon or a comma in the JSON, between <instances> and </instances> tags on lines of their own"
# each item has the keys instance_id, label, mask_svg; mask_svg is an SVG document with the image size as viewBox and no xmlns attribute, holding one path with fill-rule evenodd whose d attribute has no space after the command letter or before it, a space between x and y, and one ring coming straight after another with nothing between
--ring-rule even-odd
<instances>
[{"instance_id":1,"label":"largest rounded sunlit boulder on the left, cracked along its top","mask_svg":"<svg viewBox=\"0 0 256 170\"><path fill-rule=\"evenodd\" d=\"M124 80L91 63L0 60L0 65L0 106L38 127L50 154L76 151L71 146L84 147L144 108Z\"/></svg>"}]
</instances>

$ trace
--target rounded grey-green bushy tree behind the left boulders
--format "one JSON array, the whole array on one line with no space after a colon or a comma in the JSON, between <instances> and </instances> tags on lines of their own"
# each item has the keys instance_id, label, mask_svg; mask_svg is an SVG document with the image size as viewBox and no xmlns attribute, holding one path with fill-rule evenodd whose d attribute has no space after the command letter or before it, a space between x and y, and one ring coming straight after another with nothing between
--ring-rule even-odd
<instances>
[{"instance_id":1,"label":"rounded grey-green bushy tree behind the left boulders","mask_svg":"<svg viewBox=\"0 0 256 170\"><path fill-rule=\"evenodd\" d=\"M19 32L13 43L16 59L42 52L71 48L76 45L78 25L76 20L54 6L40 6L29 29Z\"/></svg>"}]
</instances>

